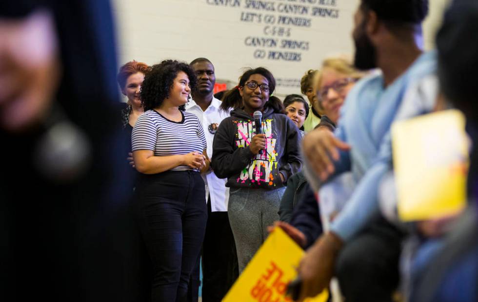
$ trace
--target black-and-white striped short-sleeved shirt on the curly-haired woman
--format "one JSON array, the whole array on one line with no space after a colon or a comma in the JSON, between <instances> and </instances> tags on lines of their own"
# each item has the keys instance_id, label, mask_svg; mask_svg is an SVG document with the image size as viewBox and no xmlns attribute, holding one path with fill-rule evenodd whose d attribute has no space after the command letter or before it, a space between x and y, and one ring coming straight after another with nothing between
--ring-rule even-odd
<instances>
[{"instance_id":1,"label":"black-and-white striped short-sleeved shirt on the curly-haired woman","mask_svg":"<svg viewBox=\"0 0 478 302\"><path fill-rule=\"evenodd\" d=\"M182 121L170 121L155 110L139 116L133 128L131 143L133 151L151 150L155 156L171 156L199 152L206 149L206 138L198 117L182 112ZM193 170L185 165L170 171Z\"/></svg>"}]
</instances>

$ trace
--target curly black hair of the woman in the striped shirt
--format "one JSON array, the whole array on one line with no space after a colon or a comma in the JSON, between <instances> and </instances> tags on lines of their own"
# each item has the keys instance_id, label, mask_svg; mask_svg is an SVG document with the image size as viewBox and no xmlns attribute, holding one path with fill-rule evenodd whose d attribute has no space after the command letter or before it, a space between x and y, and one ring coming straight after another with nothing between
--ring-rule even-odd
<instances>
[{"instance_id":1,"label":"curly black hair of the woman in the striped shirt","mask_svg":"<svg viewBox=\"0 0 478 302\"><path fill-rule=\"evenodd\" d=\"M189 87L191 91L194 90L198 80L188 64L177 60L163 60L159 64L151 66L151 70L144 76L139 92L139 98L145 111L158 108L169 97L174 79L180 71L188 76ZM179 110L184 111L185 107L185 105L179 106Z\"/></svg>"}]
</instances>

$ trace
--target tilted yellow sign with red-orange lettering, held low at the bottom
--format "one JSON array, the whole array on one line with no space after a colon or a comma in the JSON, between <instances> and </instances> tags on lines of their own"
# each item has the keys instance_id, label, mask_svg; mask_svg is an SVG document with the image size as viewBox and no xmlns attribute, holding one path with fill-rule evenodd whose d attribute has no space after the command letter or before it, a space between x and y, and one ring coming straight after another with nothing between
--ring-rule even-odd
<instances>
[{"instance_id":1,"label":"tilted yellow sign with red-orange lettering, held low at the bottom","mask_svg":"<svg viewBox=\"0 0 478 302\"><path fill-rule=\"evenodd\" d=\"M287 284L297 277L297 267L304 251L278 227L262 244L223 302L289 302ZM307 302L325 302L324 290Z\"/></svg>"}]
</instances>

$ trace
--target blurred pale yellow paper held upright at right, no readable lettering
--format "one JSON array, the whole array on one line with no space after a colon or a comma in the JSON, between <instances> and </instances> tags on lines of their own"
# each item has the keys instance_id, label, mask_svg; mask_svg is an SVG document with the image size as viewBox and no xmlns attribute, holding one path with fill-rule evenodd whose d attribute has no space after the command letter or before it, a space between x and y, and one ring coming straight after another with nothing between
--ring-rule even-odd
<instances>
[{"instance_id":1,"label":"blurred pale yellow paper held upright at right, no readable lettering","mask_svg":"<svg viewBox=\"0 0 478 302\"><path fill-rule=\"evenodd\" d=\"M392 124L398 215L403 221L453 215L466 204L465 118L446 110Z\"/></svg>"}]
</instances>

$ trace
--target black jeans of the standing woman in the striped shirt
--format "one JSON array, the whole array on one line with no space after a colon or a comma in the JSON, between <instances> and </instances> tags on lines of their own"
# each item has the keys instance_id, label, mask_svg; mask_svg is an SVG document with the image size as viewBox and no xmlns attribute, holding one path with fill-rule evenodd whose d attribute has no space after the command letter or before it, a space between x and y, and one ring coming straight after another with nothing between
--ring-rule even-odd
<instances>
[{"instance_id":1,"label":"black jeans of the standing woman in the striped shirt","mask_svg":"<svg viewBox=\"0 0 478 302\"><path fill-rule=\"evenodd\" d=\"M141 175L135 213L153 263L152 301L186 301L207 220L199 172Z\"/></svg>"}]
</instances>

